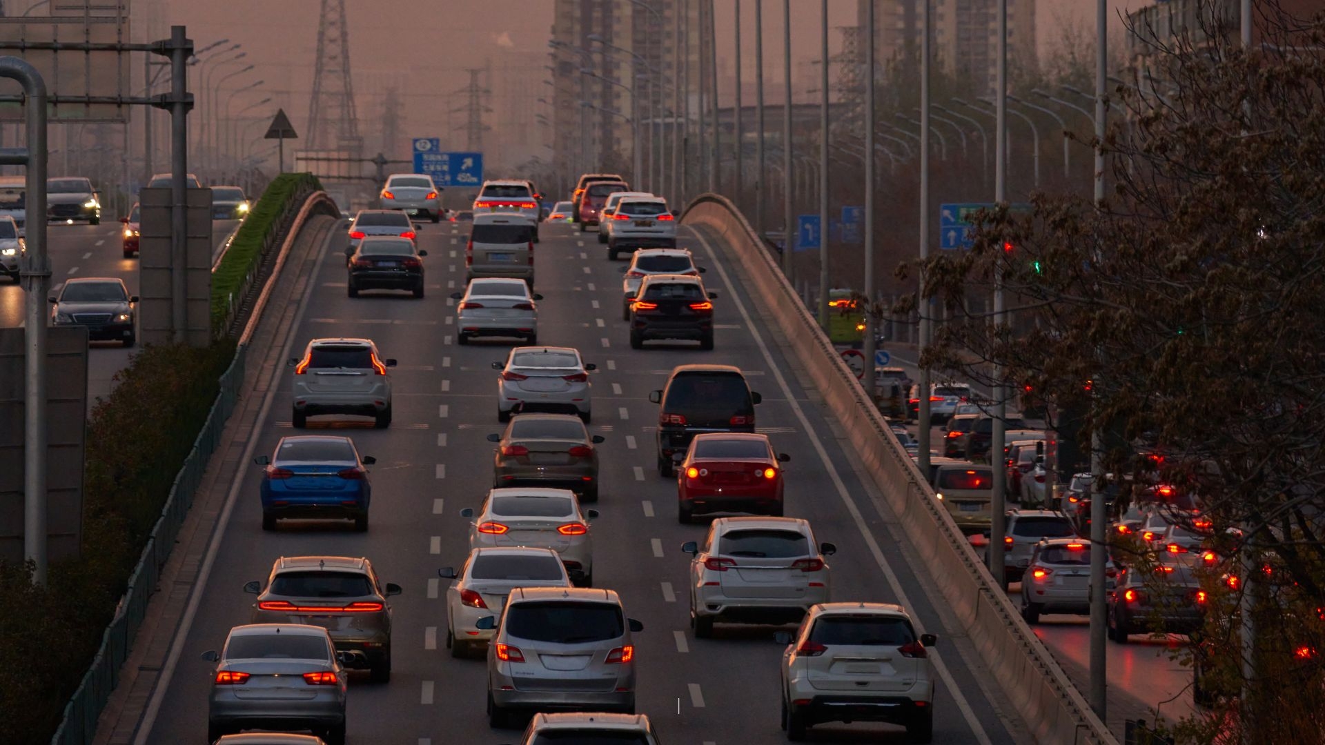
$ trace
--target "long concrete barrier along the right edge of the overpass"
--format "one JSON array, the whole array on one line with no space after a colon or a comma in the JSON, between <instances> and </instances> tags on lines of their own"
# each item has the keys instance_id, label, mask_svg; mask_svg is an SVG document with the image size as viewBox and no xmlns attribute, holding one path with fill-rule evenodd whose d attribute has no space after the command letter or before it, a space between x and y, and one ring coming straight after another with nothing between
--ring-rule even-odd
<instances>
[{"instance_id":1,"label":"long concrete barrier along the right edge of the overpass","mask_svg":"<svg viewBox=\"0 0 1325 745\"><path fill-rule=\"evenodd\" d=\"M912 537L934 586L992 676L1007 681L1004 693L1036 741L1117 744L938 504L745 216L726 198L702 195L686 207L681 221L709 231L741 266L750 294L782 331L824 406L852 432L849 441L863 471Z\"/></svg>"}]
</instances>

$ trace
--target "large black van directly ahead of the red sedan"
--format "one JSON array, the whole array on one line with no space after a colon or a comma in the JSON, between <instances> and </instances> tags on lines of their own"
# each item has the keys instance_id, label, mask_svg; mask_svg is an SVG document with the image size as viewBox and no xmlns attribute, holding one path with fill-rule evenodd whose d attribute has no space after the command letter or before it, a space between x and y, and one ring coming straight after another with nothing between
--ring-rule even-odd
<instances>
[{"instance_id":1,"label":"large black van directly ahead of the red sedan","mask_svg":"<svg viewBox=\"0 0 1325 745\"><path fill-rule=\"evenodd\" d=\"M669 477L672 457L685 453L696 435L754 432L754 407L762 398L746 384L739 367L682 365L649 400L659 404L659 475Z\"/></svg>"}]
</instances>

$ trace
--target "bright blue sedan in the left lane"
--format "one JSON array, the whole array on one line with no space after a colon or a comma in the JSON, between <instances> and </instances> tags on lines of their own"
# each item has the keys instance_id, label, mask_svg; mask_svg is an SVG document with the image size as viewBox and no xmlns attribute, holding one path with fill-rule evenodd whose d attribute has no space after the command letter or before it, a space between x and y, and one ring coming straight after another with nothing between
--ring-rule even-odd
<instances>
[{"instance_id":1,"label":"bright blue sedan in the left lane","mask_svg":"<svg viewBox=\"0 0 1325 745\"><path fill-rule=\"evenodd\" d=\"M272 457L253 463L262 473L262 530L276 530L281 518L352 520L368 529L372 487L366 465L376 459L359 456L350 437L298 435L281 437Z\"/></svg>"}]
</instances>

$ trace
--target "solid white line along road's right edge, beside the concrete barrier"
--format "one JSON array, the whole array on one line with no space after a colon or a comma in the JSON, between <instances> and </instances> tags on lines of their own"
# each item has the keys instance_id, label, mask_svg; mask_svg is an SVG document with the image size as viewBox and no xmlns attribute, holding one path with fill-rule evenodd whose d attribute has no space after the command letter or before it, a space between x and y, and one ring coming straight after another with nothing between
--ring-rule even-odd
<instances>
[{"instance_id":1,"label":"solid white line along road's right edge, beside the concrete barrier","mask_svg":"<svg viewBox=\"0 0 1325 745\"><path fill-rule=\"evenodd\" d=\"M713 264L718 269L718 274L722 276L722 284L729 288L735 286L731 277L727 276L726 266L721 261L716 260L717 253L714 253L713 247L709 245L709 240L704 237L702 233L694 235L704 245L705 251L708 251L709 256L714 258ZM860 506L856 505L856 500L851 496L851 492L847 490L847 484L843 483L841 475L837 473L837 467L833 465L832 460L828 457L828 451L824 448L819 435L811 428L810 419L806 416L804 410L800 407L800 403L792 398L791 387L787 384L786 376L783 376L782 370L779 370L776 363L772 361L772 353L768 351L768 345L765 343L763 334L761 334L759 329L754 325L754 319L746 309L745 302L741 300L741 296L733 292L729 297L741 313L741 318L745 319L746 327L750 330L750 337L754 339L754 343L763 354L767 369L772 372L772 376L776 378L782 395L786 396L787 403L791 406L791 411L796 415L796 420L800 422L802 430L804 430L806 435L810 437L810 443L814 445L815 453L819 455L819 461L823 464L824 471L828 472L828 477L832 479L833 489L837 492L837 496L845 505L847 512L851 514L856 529L860 530L861 537L865 540L865 545L869 547L869 553L874 558L874 563L877 563L878 569L882 570L889 589L893 591L893 595L897 597L897 603L902 607L916 607L914 603L910 602L910 598L906 597L906 591L902 590L902 585L897 579L897 573L893 571L888 559L884 558L884 551L878 547L878 541L874 540L874 536L869 532L869 528L867 528L865 518L860 513ZM947 692L953 696L953 701L957 704L957 708L962 712L962 718L966 720L967 726L970 726L971 732L975 734L977 742L980 745L990 745L991 741L988 733L984 732L984 726L980 724L980 720L977 718L970 701L966 700L966 695L957 687L957 681L953 679L951 671L947 669L947 664L943 663L943 659L937 651L931 650L929 656L934 660L934 669L943 680L943 685L947 687Z\"/></svg>"}]
</instances>

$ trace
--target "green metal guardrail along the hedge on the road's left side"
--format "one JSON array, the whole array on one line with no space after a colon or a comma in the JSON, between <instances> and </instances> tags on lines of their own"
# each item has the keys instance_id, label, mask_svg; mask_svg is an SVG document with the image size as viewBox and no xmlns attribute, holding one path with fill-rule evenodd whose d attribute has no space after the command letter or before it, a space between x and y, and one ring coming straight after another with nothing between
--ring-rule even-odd
<instances>
[{"instance_id":1,"label":"green metal guardrail along the hedge on the road's left side","mask_svg":"<svg viewBox=\"0 0 1325 745\"><path fill-rule=\"evenodd\" d=\"M50 738L50 745L87 745L95 736L97 720L101 717L110 693L119 683L119 669L132 648L138 628L143 624L147 602L156 590L160 570L166 566L171 549L175 547L175 537L179 534L180 526L184 525L197 487L203 483L208 460L221 440L225 422L235 411L240 388L244 384L246 358L248 346L240 345L231 366L221 374L221 390L216 402L212 403L203 430L193 440L193 449L189 451L184 465L175 476L160 518L156 520L156 525L147 538L138 565L129 575L129 587L119 599L115 618L102 634L101 648L93 658L91 667L87 668L78 689L65 705L64 721Z\"/></svg>"}]
</instances>

